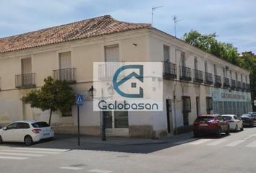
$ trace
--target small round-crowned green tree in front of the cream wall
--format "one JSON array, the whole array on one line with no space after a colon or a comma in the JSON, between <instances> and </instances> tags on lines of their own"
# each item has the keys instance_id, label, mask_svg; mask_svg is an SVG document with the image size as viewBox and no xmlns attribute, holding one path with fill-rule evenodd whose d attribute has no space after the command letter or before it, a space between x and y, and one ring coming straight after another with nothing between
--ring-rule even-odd
<instances>
[{"instance_id":1,"label":"small round-crowned green tree in front of the cream wall","mask_svg":"<svg viewBox=\"0 0 256 173\"><path fill-rule=\"evenodd\" d=\"M66 112L74 105L74 92L67 81L54 81L51 76L48 76L44 82L41 89L27 92L23 99L30 103L31 107L40 108L42 111L50 110L48 123L51 125L53 111Z\"/></svg>"}]
</instances>

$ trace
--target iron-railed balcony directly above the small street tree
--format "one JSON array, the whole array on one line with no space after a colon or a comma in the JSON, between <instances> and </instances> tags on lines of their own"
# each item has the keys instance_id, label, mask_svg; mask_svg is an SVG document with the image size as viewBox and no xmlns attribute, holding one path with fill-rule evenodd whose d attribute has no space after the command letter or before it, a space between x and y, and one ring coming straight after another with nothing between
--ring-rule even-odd
<instances>
[{"instance_id":1,"label":"iron-railed balcony directly above the small street tree","mask_svg":"<svg viewBox=\"0 0 256 173\"><path fill-rule=\"evenodd\" d=\"M76 83L75 68L64 68L53 71L54 80L67 81L70 84Z\"/></svg>"}]
</instances>

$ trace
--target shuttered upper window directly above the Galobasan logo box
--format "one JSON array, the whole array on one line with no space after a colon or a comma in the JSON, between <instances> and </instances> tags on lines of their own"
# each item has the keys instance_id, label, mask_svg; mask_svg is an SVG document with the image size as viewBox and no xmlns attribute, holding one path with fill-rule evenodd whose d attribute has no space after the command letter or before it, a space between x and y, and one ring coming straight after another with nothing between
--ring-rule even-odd
<instances>
[{"instance_id":1,"label":"shuttered upper window directly above the Galobasan logo box","mask_svg":"<svg viewBox=\"0 0 256 173\"><path fill-rule=\"evenodd\" d=\"M119 45L105 46L105 61L119 62Z\"/></svg>"}]
</instances>

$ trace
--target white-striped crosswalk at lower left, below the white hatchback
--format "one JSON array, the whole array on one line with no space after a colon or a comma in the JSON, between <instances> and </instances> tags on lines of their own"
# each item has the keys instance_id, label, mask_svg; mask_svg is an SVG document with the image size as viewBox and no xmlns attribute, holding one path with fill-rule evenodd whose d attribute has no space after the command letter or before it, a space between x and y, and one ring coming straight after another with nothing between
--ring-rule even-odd
<instances>
[{"instance_id":1,"label":"white-striped crosswalk at lower left, below the white hatchback","mask_svg":"<svg viewBox=\"0 0 256 173\"><path fill-rule=\"evenodd\" d=\"M61 154L65 151L68 150L53 148L4 148L0 149L0 159L25 160L51 154Z\"/></svg>"}]
</instances>

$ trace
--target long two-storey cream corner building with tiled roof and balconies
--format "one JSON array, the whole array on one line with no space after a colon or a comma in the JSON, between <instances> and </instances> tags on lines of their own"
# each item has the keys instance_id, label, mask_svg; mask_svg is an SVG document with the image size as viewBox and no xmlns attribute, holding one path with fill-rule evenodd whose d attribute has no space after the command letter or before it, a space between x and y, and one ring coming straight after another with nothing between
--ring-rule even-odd
<instances>
[{"instance_id":1,"label":"long two-storey cream corner building with tiled roof and balconies","mask_svg":"<svg viewBox=\"0 0 256 173\"><path fill-rule=\"evenodd\" d=\"M0 123L48 121L48 111L31 109L21 98L53 76L85 95L81 133L100 135L100 112L93 112L88 94L96 61L163 62L163 111L106 112L108 136L166 136L189 130L197 115L252 109L248 71L149 24L102 16L0 38ZM76 133L76 112L54 112L57 133Z\"/></svg>"}]
</instances>

